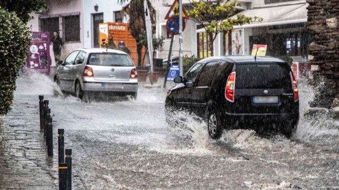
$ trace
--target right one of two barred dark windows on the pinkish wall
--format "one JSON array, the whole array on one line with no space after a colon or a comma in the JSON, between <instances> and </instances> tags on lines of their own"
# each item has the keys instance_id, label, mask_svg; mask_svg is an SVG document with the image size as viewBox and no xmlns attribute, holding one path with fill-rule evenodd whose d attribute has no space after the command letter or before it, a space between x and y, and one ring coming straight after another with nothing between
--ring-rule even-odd
<instances>
[{"instance_id":1,"label":"right one of two barred dark windows on the pinkish wall","mask_svg":"<svg viewBox=\"0 0 339 190\"><path fill-rule=\"evenodd\" d=\"M80 15L63 17L63 33L65 42L80 42Z\"/></svg>"}]
</instances>

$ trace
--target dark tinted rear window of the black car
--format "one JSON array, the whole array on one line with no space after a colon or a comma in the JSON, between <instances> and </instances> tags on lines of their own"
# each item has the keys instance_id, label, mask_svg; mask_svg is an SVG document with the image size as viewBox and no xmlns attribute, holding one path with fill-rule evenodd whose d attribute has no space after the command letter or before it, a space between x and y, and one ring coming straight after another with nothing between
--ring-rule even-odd
<instances>
[{"instance_id":1,"label":"dark tinted rear window of the black car","mask_svg":"<svg viewBox=\"0 0 339 190\"><path fill-rule=\"evenodd\" d=\"M290 89L290 69L285 63L238 64L235 88L238 89Z\"/></svg>"}]
</instances>

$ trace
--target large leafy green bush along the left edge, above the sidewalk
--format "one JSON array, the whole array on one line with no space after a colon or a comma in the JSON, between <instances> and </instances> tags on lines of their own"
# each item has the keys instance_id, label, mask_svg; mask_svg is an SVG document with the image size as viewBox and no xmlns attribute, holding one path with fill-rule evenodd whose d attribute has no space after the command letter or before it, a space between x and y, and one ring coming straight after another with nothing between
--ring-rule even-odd
<instances>
[{"instance_id":1,"label":"large leafy green bush along the left edge, above the sidewalk","mask_svg":"<svg viewBox=\"0 0 339 190\"><path fill-rule=\"evenodd\" d=\"M26 64L29 28L16 16L0 8L0 115L11 110L15 81Z\"/></svg>"}]
</instances>

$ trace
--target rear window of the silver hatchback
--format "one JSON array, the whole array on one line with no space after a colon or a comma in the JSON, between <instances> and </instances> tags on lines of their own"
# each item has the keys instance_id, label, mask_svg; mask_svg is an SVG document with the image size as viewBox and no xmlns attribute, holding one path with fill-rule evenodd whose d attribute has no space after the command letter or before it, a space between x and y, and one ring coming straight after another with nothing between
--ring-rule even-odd
<instances>
[{"instance_id":1,"label":"rear window of the silver hatchback","mask_svg":"<svg viewBox=\"0 0 339 190\"><path fill-rule=\"evenodd\" d=\"M100 66L135 66L132 60L126 54L117 53L91 53L87 65Z\"/></svg>"}]
</instances>

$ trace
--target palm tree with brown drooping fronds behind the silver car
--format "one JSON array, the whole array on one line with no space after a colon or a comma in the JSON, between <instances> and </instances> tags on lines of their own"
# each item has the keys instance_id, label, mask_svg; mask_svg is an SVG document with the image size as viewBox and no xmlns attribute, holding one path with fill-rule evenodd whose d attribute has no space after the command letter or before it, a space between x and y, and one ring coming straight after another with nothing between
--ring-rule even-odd
<instances>
[{"instance_id":1,"label":"palm tree with brown drooping fronds behind the silver car","mask_svg":"<svg viewBox=\"0 0 339 190\"><path fill-rule=\"evenodd\" d=\"M146 30L145 27L145 10L144 1L147 1L149 14L151 17L152 24L155 24L156 10L149 0L118 0L121 4L127 3L121 10L124 16L128 16L129 29L132 36L137 41L137 52L138 52L138 66L141 66L141 54L142 44L140 42L139 34L142 30Z\"/></svg>"}]
</instances>

